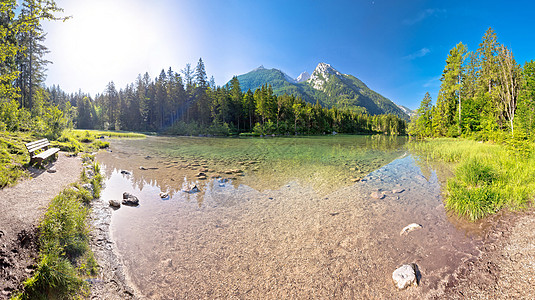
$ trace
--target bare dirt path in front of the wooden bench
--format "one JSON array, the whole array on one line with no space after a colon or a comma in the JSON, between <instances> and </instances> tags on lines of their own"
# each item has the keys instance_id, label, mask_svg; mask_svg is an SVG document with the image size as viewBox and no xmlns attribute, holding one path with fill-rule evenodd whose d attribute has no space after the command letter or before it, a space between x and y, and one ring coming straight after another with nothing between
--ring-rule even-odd
<instances>
[{"instance_id":1,"label":"bare dirt path in front of the wooden bench","mask_svg":"<svg viewBox=\"0 0 535 300\"><path fill-rule=\"evenodd\" d=\"M61 152L50 168L56 172L30 168L33 178L0 190L0 299L9 299L33 272L37 225L50 200L78 180L82 170L80 158Z\"/></svg>"}]
</instances>

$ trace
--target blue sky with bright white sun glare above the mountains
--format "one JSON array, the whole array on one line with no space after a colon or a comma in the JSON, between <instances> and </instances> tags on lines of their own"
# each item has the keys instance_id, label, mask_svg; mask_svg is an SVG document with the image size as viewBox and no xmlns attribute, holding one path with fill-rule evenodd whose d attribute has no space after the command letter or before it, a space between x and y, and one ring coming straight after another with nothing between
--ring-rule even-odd
<instances>
[{"instance_id":1,"label":"blue sky with bright white sun glare above the mountains","mask_svg":"<svg viewBox=\"0 0 535 300\"><path fill-rule=\"evenodd\" d=\"M326 62L415 109L427 91L436 99L449 50L475 51L489 27L517 62L535 59L533 1L56 2L72 19L45 24L46 84L92 96L202 57L218 85L259 65L295 78Z\"/></svg>"}]
</instances>

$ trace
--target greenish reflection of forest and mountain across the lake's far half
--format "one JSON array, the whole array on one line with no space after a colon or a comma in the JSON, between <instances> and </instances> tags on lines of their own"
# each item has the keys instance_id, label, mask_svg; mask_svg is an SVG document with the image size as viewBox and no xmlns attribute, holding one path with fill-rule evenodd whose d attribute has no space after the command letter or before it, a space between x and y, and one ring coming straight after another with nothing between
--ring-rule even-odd
<instances>
[{"instance_id":1,"label":"greenish reflection of forest and mountain across the lake's far half","mask_svg":"<svg viewBox=\"0 0 535 300\"><path fill-rule=\"evenodd\" d=\"M327 194L354 183L388 164L403 152L404 138L390 136L328 136L275 139L150 138L117 141L112 153L99 154L109 178L114 169L138 190L157 186L171 194L196 184L201 193L213 176L229 178L224 186L246 185L258 191L276 190L291 181ZM132 150L133 155L130 155ZM135 151L134 151L135 150ZM143 166L146 170L140 170ZM243 172L238 172L243 171ZM203 172L206 180L196 175ZM226 174L229 173L229 174Z\"/></svg>"}]
</instances>

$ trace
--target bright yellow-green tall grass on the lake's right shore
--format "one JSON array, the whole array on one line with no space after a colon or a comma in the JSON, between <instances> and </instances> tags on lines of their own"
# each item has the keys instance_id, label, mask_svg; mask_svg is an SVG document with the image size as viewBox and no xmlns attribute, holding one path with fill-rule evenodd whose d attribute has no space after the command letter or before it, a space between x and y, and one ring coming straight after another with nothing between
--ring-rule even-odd
<instances>
[{"instance_id":1,"label":"bright yellow-green tall grass on the lake's right shore","mask_svg":"<svg viewBox=\"0 0 535 300\"><path fill-rule=\"evenodd\" d=\"M504 208L526 208L535 196L535 155L530 142L497 145L442 138L412 142L409 147L428 160L455 163L455 176L446 186L445 207L470 220Z\"/></svg>"}]
</instances>

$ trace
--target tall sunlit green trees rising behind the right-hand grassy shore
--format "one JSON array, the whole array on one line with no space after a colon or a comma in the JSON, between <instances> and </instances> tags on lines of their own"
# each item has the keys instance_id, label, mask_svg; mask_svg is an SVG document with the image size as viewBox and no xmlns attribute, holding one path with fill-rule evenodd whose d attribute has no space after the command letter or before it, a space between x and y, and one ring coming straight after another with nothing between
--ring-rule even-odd
<instances>
[{"instance_id":1,"label":"tall sunlit green trees rising behind the right-hand grassy shore","mask_svg":"<svg viewBox=\"0 0 535 300\"><path fill-rule=\"evenodd\" d=\"M532 136L535 129L535 62L519 65L489 28L479 48L450 50L436 104L427 93L411 120L417 137L472 136L501 140Z\"/></svg>"}]
</instances>

